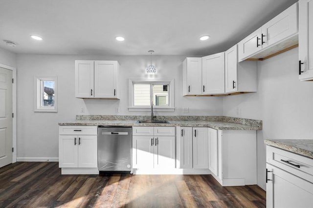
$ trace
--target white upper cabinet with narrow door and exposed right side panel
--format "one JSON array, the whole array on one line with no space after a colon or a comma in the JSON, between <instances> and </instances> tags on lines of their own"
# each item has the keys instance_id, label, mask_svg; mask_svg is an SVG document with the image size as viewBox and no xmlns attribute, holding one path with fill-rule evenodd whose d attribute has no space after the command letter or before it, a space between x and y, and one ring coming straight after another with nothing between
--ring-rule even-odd
<instances>
[{"instance_id":1,"label":"white upper cabinet with narrow door and exposed right side panel","mask_svg":"<svg viewBox=\"0 0 313 208\"><path fill-rule=\"evenodd\" d=\"M257 91L257 63L240 62L237 44L225 51L225 93Z\"/></svg>"}]
</instances>

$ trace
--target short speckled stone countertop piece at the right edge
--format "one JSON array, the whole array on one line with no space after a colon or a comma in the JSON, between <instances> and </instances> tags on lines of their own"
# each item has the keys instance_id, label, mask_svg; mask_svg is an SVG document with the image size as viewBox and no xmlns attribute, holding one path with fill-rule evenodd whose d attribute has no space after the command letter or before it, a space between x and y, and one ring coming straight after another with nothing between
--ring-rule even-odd
<instances>
[{"instance_id":1,"label":"short speckled stone countertop piece at the right edge","mask_svg":"<svg viewBox=\"0 0 313 208\"><path fill-rule=\"evenodd\" d=\"M264 143L269 146L275 146L313 159L312 139L266 139L264 140Z\"/></svg>"}]
</instances>

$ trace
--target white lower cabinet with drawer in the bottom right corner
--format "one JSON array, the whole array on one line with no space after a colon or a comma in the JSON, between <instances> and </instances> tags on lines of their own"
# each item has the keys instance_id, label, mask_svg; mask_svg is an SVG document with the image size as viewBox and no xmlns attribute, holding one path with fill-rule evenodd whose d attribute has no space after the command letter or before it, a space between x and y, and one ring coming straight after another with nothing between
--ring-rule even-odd
<instances>
[{"instance_id":1,"label":"white lower cabinet with drawer in the bottom right corner","mask_svg":"<svg viewBox=\"0 0 313 208\"><path fill-rule=\"evenodd\" d=\"M267 208L313 207L313 159L267 146L266 168Z\"/></svg>"}]
</instances>

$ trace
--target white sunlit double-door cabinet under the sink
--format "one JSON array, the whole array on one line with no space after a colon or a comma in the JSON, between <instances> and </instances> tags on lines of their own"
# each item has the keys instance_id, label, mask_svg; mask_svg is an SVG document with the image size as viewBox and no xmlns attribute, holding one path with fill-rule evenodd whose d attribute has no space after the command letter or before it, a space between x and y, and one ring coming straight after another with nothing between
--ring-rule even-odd
<instances>
[{"instance_id":1,"label":"white sunlit double-door cabinet under the sink","mask_svg":"<svg viewBox=\"0 0 313 208\"><path fill-rule=\"evenodd\" d=\"M175 168L175 127L134 126L133 167Z\"/></svg>"}]
</instances>

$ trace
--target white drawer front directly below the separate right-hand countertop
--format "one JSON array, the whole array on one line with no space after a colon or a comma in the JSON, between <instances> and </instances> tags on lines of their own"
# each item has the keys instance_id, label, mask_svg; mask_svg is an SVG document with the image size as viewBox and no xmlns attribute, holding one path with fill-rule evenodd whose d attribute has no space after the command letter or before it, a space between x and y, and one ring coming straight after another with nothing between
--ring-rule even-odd
<instances>
[{"instance_id":1,"label":"white drawer front directly below the separate right-hand countertop","mask_svg":"<svg viewBox=\"0 0 313 208\"><path fill-rule=\"evenodd\" d=\"M313 159L273 146L267 146L266 151L268 164L313 183Z\"/></svg>"}]
</instances>

